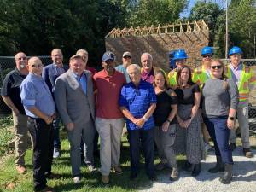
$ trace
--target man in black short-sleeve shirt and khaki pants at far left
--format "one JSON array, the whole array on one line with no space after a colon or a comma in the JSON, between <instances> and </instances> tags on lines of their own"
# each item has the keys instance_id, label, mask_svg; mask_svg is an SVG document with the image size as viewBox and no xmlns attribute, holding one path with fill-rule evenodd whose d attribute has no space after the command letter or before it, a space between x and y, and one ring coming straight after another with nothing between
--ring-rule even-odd
<instances>
[{"instance_id":1,"label":"man in black short-sleeve shirt and khaki pants at far left","mask_svg":"<svg viewBox=\"0 0 256 192\"><path fill-rule=\"evenodd\" d=\"M17 172L26 172L25 153L27 145L27 117L20 99L20 84L26 78L27 58L25 53L15 55L15 70L8 73L3 80L1 96L3 102L12 110L15 127L15 165Z\"/></svg>"}]
</instances>

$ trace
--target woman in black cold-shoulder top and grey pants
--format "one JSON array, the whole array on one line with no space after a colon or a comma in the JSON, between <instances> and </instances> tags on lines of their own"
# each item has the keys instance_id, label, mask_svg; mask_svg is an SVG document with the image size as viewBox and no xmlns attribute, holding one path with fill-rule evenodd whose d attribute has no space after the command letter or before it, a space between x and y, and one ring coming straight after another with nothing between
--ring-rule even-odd
<instances>
[{"instance_id":1,"label":"woman in black cold-shoulder top and grey pants","mask_svg":"<svg viewBox=\"0 0 256 192\"><path fill-rule=\"evenodd\" d=\"M177 180L176 154L173 144L176 137L177 124L175 115L177 113L177 96L172 89L167 86L165 73L161 70L154 74L154 91L156 94L156 108L154 110L154 141L160 155L160 164L157 170L162 170L165 166L171 166L170 179Z\"/></svg>"}]
</instances>

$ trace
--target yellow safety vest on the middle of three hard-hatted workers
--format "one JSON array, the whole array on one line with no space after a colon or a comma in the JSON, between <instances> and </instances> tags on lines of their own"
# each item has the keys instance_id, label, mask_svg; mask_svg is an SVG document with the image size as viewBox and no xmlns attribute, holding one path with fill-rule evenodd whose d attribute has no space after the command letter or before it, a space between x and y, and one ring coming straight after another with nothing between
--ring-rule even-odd
<instances>
[{"instance_id":1,"label":"yellow safety vest on the middle of three hard-hatted workers","mask_svg":"<svg viewBox=\"0 0 256 192\"><path fill-rule=\"evenodd\" d=\"M210 77L212 77L212 73L210 73ZM200 88L202 88L203 84L206 83L207 79L209 79L207 75L207 71L205 67L202 65L200 67L195 68L195 71L192 75L192 81L195 84L200 85Z\"/></svg>"}]
</instances>

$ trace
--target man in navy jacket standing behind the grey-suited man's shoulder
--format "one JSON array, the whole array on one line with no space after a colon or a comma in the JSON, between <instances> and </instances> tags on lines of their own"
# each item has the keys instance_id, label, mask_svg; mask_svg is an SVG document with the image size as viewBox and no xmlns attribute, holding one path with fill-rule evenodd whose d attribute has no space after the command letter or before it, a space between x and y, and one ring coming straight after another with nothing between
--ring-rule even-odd
<instances>
[{"instance_id":1,"label":"man in navy jacket standing behind the grey-suited man's shoulder","mask_svg":"<svg viewBox=\"0 0 256 192\"><path fill-rule=\"evenodd\" d=\"M53 88L55 86L55 80L62 74L67 72L68 67L64 66L63 55L61 49L53 49L51 51L51 59L53 61L52 64L43 68L42 77L45 83L49 86L49 90L53 93ZM56 113L56 119L53 121L54 127L54 158L58 158L60 156L61 151L61 140L59 136L60 131L60 121L61 117L58 113Z\"/></svg>"}]
</instances>

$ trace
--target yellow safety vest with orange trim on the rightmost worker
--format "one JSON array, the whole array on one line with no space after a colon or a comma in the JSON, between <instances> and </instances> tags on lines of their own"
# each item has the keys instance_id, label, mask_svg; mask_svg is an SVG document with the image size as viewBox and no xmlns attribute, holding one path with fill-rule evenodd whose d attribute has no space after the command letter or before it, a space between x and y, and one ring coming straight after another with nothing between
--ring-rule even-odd
<instances>
[{"instance_id":1,"label":"yellow safety vest with orange trim on the rightmost worker","mask_svg":"<svg viewBox=\"0 0 256 192\"><path fill-rule=\"evenodd\" d=\"M232 79L230 65L225 67L225 74L229 79ZM253 70L251 70L250 67L247 67L244 64L242 64L241 78L237 84L237 88L239 91L239 102L247 101L250 92L250 84L256 85L256 74L253 74Z\"/></svg>"}]
</instances>

